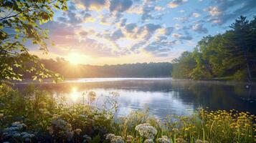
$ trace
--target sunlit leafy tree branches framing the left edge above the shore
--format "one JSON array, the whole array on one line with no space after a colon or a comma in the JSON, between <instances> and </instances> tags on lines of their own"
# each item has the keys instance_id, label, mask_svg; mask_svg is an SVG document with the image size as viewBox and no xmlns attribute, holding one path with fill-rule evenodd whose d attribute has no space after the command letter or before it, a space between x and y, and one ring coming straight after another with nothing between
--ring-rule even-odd
<instances>
[{"instance_id":1,"label":"sunlit leafy tree branches framing the left edge above the shore","mask_svg":"<svg viewBox=\"0 0 256 143\"><path fill-rule=\"evenodd\" d=\"M67 0L1 0L0 1L0 80L22 80L24 73L33 79L61 79L29 54L25 44L32 43L47 54L47 30L39 24L52 20L53 9L67 9Z\"/></svg>"}]
</instances>

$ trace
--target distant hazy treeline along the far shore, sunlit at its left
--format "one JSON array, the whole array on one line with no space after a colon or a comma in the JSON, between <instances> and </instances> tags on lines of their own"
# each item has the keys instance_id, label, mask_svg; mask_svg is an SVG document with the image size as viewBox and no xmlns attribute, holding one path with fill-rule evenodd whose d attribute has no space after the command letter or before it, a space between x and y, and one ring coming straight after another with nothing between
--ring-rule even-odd
<instances>
[{"instance_id":1,"label":"distant hazy treeline along the far shore, sunlit at its left","mask_svg":"<svg viewBox=\"0 0 256 143\"><path fill-rule=\"evenodd\" d=\"M137 63L93 66L70 64L65 59L41 59L47 69L61 74L65 78L79 77L170 77L172 64L160 63ZM25 77L30 77L29 74Z\"/></svg>"}]
</instances>

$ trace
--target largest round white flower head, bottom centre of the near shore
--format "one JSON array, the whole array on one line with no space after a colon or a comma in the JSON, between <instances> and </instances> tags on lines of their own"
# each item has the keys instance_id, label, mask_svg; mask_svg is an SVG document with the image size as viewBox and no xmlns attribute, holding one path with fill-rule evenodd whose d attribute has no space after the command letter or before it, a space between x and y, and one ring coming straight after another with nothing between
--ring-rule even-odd
<instances>
[{"instance_id":1,"label":"largest round white flower head, bottom centre of the near shore","mask_svg":"<svg viewBox=\"0 0 256 143\"><path fill-rule=\"evenodd\" d=\"M146 139L153 139L157 133L156 128L152 127L148 123L138 124L135 129L142 137L146 137Z\"/></svg>"}]
</instances>

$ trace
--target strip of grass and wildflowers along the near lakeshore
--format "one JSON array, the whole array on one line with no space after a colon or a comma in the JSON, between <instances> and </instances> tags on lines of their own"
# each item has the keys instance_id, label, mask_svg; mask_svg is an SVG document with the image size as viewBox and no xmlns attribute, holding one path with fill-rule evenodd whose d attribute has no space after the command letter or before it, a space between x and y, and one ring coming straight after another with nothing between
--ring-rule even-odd
<instances>
[{"instance_id":1,"label":"strip of grass and wildflowers along the near lakeshore","mask_svg":"<svg viewBox=\"0 0 256 143\"><path fill-rule=\"evenodd\" d=\"M92 93L85 96L93 102ZM115 118L115 98L108 104L113 107L68 105L34 87L18 91L2 84L0 142L256 142L256 117L248 112L202 109L158 120L145 109Z\"/></svg>"}]
</instances>

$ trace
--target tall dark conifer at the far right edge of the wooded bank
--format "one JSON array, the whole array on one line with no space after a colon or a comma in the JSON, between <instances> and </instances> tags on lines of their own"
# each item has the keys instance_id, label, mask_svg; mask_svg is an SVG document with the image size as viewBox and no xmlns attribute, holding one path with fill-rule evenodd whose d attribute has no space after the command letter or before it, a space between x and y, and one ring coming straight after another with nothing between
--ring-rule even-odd
<instances>
[{"instance_id":1,"label":"tall dark conifer at the far right edge of the wooded bank","mask_svg":"<svg viewBox=\"0 0 256 143\"><path fill-rule=\"evenodd\" d=\"M227 39L232 46L226 45L229 52L234 55L230 59L239 58L240 62L235 66L239 66L240 70L247 71L247 80L250 82L252 79L250 67L255 62L255 27L245 16L240 16L230 27L232 30L227 32Z\"/></svg>"}]
</instances>

